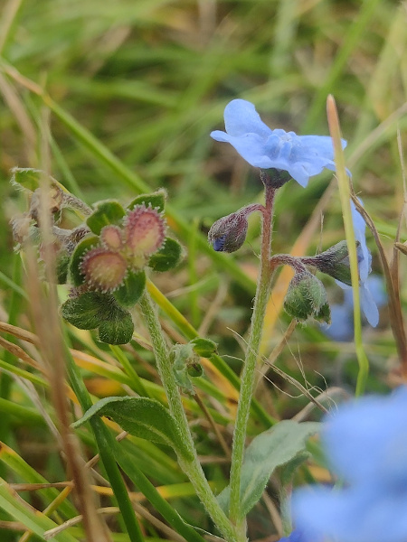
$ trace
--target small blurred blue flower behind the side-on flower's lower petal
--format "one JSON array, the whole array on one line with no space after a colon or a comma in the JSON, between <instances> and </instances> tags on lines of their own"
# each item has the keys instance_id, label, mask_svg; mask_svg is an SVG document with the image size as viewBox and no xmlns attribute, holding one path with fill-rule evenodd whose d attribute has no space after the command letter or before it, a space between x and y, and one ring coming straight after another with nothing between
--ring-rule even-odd
<instances>
[{"instance_id":1,"label":"small blurred blue flower behind the side-on flower's lower petal","mask_svg":"<svg viewBox=\"0 0 407 542\"><path fill-rule=\"evenodd\" d=\"M344 288L344 302L331 305L331 323L329 326L321 324L321 329L333 341L351 341L354 337L354 294L349 286L339 282L337 284ZM387 294L381 276L368 276L364 282L364 289L372 295L377 309L387 304Z\"/></svg>"}]
</instances>

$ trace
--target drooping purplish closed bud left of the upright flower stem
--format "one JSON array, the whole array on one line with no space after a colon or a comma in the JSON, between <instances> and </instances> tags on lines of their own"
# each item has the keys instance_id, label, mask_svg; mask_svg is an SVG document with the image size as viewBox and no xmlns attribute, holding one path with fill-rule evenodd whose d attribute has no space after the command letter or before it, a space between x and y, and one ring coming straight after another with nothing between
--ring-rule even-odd
<instances>
[{"instance_id":1,"label":"drooping purplish closed bud left of the upright flower stem","mask_svg":"<svg viewBox=\"0 0 407 542\"><path fill-rule=\"evenodd\" d=\"M217 252L234 252L244 243L247 229L246 214L238 210L216 220L209 230L208 241Z\"/></svg>"}]
</instances>

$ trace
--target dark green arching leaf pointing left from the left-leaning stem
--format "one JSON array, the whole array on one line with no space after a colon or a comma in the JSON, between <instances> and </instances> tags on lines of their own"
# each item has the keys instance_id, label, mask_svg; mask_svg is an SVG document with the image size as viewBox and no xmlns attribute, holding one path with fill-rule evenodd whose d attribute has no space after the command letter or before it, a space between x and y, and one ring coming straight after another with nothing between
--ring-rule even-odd
<instances>
[{"instance_id":1,"label":"dark green arching leaf pointing left from the left-leaning stem","mask_svg":"<svg viewBox=\"0 0 407 542\"><path fill-rule=\"evenodd\" d=\"M108 416L130 435L171 446L185 460L192 460L175 418L156 399L105 397L91 406L73 427L79 427L95 415Z\"/></svg>"}]
</instances>

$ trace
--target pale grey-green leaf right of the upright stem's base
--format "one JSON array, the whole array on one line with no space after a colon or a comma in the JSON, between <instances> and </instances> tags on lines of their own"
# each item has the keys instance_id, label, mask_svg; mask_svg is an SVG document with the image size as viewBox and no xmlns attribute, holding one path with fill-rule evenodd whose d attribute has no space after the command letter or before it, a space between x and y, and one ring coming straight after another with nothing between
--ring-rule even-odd
<instances>
[{"instance_id":1,"label":"pale grey-green leaf right of the upright stem's base","mask_svg":"<svg viewBox=\"0 0 407 542\"><path fill-rule=\"evenodd\" d=\"M317 422L298 424L284 420L251 441L244 454L241 470L241 518L260 499L274 469L302 452L308 436L317 433L319 428ZM230 486L227 486L218 496L225 511L229 509L229 499Z\"/></svg>"}]
</instances>

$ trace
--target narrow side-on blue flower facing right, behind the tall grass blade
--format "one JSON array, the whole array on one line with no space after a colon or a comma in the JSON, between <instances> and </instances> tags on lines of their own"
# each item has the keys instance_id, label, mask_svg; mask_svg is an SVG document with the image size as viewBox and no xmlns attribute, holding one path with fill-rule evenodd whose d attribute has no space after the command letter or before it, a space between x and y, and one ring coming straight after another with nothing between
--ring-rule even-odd
<instances>
[{"instance_id":1,"label":"narrow side-on blue flower facing right, behind the tall grass blade","mask_svg":"<svg viewBox=\"0 0 407 542\"><path fill-rule=\"evenodd\" d=\"M362 204L361 200L359 200L359 202ZM354 222L355 239L359 242L359 246L357 248L357 264L359 269L360 306L364 312L367 322L369 322L373 327L376 327L376 325L379 323L379 310L374 302L374 295L370 291L367 283L367 277L372 270L372 255L366 245L366 224L362 215L356 210L355 203L353 201L351 201L351 209L352 219ZM344 290L350 288L350 286L345 285L344 283L339 281L336 282Z\"/></svg>"}]
</instances>

